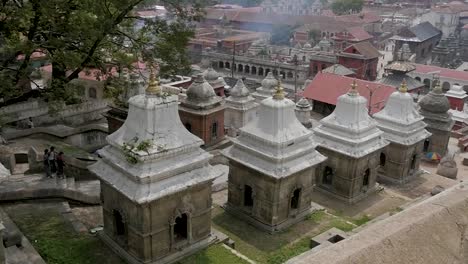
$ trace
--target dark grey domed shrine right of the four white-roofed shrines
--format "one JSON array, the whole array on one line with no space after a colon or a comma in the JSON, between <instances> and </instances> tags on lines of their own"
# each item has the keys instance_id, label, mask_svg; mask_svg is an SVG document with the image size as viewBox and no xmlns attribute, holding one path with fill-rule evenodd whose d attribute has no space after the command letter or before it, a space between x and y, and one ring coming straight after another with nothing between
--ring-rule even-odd
<instances>
[{"instance_id":1,"label":"dark grey domed shrine right of the four white-roofed shrines","mask_svg":"<svg viewBox=\"0 0 468 264\"><path fill-rule=\"evenodd\" d=\"M436 81L434 89L419 101L419 106L419 113L424 117L427 131L432 134L424 142L423 151L445 155L455 121L448 112L450 102L445 97L439 81Z\"/></svg>"}]
</instances>

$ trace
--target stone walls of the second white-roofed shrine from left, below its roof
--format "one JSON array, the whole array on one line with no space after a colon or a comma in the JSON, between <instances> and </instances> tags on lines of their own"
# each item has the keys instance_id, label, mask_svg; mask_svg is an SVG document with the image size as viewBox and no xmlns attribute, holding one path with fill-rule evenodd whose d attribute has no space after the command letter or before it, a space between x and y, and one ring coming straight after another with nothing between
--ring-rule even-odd
<instances>
[{"instance_id":1,"label":"stone walls of the second white-roofed shrine from left, below its roof","mask_svg":"<svg viewBox=\"0 0 468 264\"><path fill-rule=\"evenodd\" d=\"M310 168L283 179L261 174L233 160L229 161L228 207L268 226L269 230L284 224L310 208L315 169ZM244 206L245 185L252 187L253 206ZM291 209L294 190L301 189L299 207Z\"/></svg>"}]
</instances>

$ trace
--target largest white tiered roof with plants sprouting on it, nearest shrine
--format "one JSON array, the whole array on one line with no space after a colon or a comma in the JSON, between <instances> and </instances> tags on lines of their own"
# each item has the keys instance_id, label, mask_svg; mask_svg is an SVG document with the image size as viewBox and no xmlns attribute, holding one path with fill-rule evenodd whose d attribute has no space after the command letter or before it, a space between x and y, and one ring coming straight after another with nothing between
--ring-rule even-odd
<instances>
[{"instance_id":1,"label":"largest white tiered roof with plants sprouting on it, nearest shrine","mask_svg":"<svg viewBox=\"0 0 468 264\"><path fill-rule=\"evenodd\" d=\"M127 119L107 137L102 159L89 167L128 199L144 204L211 181L215 175L203 141L187 131L175 95L150 81L146 94L129 100Z\"/></svg>"}]
</instances>

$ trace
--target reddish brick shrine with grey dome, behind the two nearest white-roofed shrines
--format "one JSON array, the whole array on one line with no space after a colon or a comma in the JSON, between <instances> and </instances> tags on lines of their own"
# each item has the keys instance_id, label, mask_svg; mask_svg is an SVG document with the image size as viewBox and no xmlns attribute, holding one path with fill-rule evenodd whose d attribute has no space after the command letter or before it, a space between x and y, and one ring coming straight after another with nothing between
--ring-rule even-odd
<instances>
[{"instance_id":1,"label":"reddish brick shrine with grey dome, behind the two nearest white-roofed shrines","mask_svg":"<svg viewBox=\"0 0 468 264\"><path fill-rule=\"evenodd\" d=\"M217 96L203 75L197 75L181 99L179 115L185 127L213 146L224 139L224 100Z\"/></svg>"}]
</instances>

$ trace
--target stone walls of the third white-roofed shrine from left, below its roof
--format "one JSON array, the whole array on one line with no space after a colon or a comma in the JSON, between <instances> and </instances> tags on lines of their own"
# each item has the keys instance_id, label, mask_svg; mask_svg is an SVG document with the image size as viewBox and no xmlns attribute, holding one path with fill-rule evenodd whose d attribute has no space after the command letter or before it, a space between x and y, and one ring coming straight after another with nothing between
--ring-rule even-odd
<instances>
[{"instance_id":1,"label":"stone walls of the third white-roofed shrine from left, below its roof","mask_svg":"<svg viewBox=\"0 0 468 264\"><path fill-rule=\"evenodd\" d=\"M350 203L366 197L375 189L381 151L375 151L362 158L355 159L323 147L317 147L317 150L328 157L320 165L317 172L318 189ZM324 184L323 178L327 166L333 170L331 185ZM366 187L363 185L363 180L367 169L369 169L369 181Z\"/></svg>"}]
</instances>

